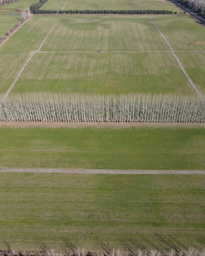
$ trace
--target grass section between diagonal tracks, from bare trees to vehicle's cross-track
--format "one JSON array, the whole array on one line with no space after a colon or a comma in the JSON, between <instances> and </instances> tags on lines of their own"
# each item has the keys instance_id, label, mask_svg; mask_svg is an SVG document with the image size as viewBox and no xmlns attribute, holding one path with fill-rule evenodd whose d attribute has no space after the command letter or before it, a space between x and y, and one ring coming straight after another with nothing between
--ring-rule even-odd
<instances>
[{"instance_id":1,"label":"grass section between diagonal tracks, from bare trees to vehicle's cross-track","mask_svg":"<svg viewBox=\"0 0 205 256\"><path fill-rule=\"evenodd\" d=\"M190 94L191 87L171 53L37 53L12 93L34 91Z\"/></svg>"}]
</instances>

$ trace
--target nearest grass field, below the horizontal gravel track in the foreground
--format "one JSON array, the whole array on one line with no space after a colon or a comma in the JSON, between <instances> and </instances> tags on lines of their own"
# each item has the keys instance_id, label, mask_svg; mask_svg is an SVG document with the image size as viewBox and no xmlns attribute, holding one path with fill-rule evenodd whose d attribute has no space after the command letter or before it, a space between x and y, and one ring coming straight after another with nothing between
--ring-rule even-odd
<instances>
[{"instance_id":1,"label":"nearest grass field, below the horizontal gravel track in the foreground","mask_svg":"<svg viewBox=\"0 0 205 256\"><path fill-rule=\"evenodd\" d=\"M122 239L145 243L141 235L155 242L154 233L197 245L204 192L200 175L1 173L0 246L40 249L40 239L60 249L66 237L84 249L100 250L97 238L117 249Z\"/></svg>"}]
</instances>

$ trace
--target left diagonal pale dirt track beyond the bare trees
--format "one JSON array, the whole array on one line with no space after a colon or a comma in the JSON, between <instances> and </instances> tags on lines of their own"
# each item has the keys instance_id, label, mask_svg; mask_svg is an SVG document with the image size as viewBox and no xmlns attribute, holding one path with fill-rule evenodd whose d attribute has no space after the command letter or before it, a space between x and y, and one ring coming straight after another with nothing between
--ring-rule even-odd
<instances>
[{"instance_id":1,"label":"left diagonal pale dirt track beyond the bare trees","mask_svg":"<svg viewBox=\"0 0 205 256\"><path fill-rule=\"evenodd\" d=\"M46 39L48 38L48 36L51 34L51 31L53 30L53 28L56 26L57 24L57 20L54 22L54 24L52 25L51 29L49 30L49 32L47 33L47 35L44 37L42 43L40 44L38 50L40 51L42 46L44 45ZM37 51L38 51L37 50ZM13 89L13 87L15 86L15 84L17 83L17 81L19 80L21 74L23 73L24 69L26 68L27 64L29 63L29 61L31 60L31 58L34 56L34 54L37 52L37 51L32 51L31 54L29 55L28 59L26 60L26 62L24 63L23 67L20 69L20 71L18 72L16 78L14 79L13 83L10 85L10 87L8 88L8 90L6 91L6 93L3 95L3 97L0 99L0 102L1 101L4 101L9 93L11 92L11 90Z\"/></svg>"}]
</instances>

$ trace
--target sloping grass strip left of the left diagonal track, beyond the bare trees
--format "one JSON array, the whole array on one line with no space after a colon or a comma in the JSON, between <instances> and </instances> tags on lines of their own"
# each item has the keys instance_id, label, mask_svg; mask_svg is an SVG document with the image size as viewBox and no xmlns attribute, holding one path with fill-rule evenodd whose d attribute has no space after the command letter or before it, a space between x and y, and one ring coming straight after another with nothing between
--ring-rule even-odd
<instances>
[{"instance_id":1,"label":"sloping grass strip left of the left diagonal track, beyond the bare trees","mask_svg":"<svg viewBox=\"0 0 205 256\"><path fill-rule=\"evenodd\" d=\"M19 70L27 60L30 51L38 49L51 25L52 19L32 17L0 46L1 93L6 92L12 84ZM37 33L38 37L36 37Z\"/></svg>"}]
</instances>

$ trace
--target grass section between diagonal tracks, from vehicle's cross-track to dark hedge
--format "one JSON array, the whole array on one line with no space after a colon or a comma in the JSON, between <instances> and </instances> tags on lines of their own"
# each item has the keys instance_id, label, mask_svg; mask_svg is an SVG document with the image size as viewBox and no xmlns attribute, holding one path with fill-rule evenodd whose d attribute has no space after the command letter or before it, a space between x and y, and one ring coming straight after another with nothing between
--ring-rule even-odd
<instances>
[{"instance_id":1,"label":"grass section between diagonal tracks, from vehicle's cross-track to dark hedge","mask_svg":"<svg viewBox=\"0 0 205 256\"><path fill-rule=\"evenodd\" d=\"M42 51L166 51L148 17L60 16Z\"/></svg>"}]
</instances>

